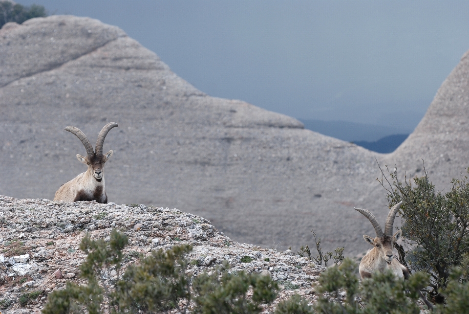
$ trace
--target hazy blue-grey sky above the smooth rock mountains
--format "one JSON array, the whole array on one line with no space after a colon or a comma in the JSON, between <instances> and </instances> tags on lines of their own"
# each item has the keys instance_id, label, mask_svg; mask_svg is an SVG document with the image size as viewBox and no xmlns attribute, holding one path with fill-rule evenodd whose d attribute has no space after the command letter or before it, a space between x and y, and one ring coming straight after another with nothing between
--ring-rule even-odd
<instances>
[{"instance_id":1,"label":"hazy blue-grey sky above the smooth rock mountains","mask_svg":"<svg viewBox=\"0 0 469 314\"><path fill-rule=\"evenodd\" d=\"M469 1L17 2L117 25L212 96L403 133L469 49Z\"/></svg>"}]
</instances>

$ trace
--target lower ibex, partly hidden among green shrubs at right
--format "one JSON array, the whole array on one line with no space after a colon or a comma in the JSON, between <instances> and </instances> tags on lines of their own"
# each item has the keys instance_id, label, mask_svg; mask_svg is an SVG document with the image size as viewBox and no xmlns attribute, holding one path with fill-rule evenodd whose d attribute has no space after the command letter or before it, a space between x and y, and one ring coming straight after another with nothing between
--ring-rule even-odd
<instances>
[{"instance_id":1,"label":"lower ibex, partly hidden among green shrubs at right","mask_svg":"<svg viewBox=\"0 0 469 314\"><path fill-rule=\"evenodd\" d=\"M389 214L387 215L386 224L384 225L384 234L383 230L381 229L380 224L376 220L375 216L370 213L366 209L355 208L355 210L361 212L363 216L368 218L371 222L373 227L375 228L376 238L372 238L367 236L366 234L363 235L363 239L366 242L373 246L365 256L363 256L362 261L360 262L360 276L362 279L370 278L374 272L384 272L385 269L390 269L394 272L397 277L404 277L408 279L410 276L409 270L399 263L397 259L394 258L394 254L392 252L392 248L397 240L399 240L402 236L402 230L398 230L394 235L392 234L392 227L394 225L394 218L396 218L397 211L401 206L402 201L398 202L394 206L392 206ZM420 297L428 306L428 308L432 309L433 304L431 304L426 297L420 293Z\"/></svg>"}]
</instances>

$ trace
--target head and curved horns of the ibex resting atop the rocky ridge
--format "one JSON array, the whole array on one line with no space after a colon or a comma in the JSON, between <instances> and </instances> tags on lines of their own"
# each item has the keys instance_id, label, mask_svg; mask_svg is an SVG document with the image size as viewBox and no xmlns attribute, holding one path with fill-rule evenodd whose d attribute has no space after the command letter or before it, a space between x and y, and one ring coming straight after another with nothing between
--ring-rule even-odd
<instances>
[{"instance_id":1,"label":"head and curved horns of the ibex resting atop the rocky ridge","mask_svg":"<svg viewBox=\"0 0 469 314\"><path fill-rule=\"evenodd\" d=\"M103 144L104 139L106 138L107 133L110 129L117 127L117 123L112 122L108 123L104 126L101 132L98 135L98 139L96 140L96 152L93 151L93 147L91 146L88 138L86 135L80 131L80 129L68 126L65 128L65 131L71 132L82 141L83 145L86 149L86 157L77 154L77 158L79 161L85 163L88 166L88 171L93 175L93 177L99 182L103 179L103 171L104 171L104 164L112 156L112 150L107 152L103 155Z\"/></svg>"}]
</instances>

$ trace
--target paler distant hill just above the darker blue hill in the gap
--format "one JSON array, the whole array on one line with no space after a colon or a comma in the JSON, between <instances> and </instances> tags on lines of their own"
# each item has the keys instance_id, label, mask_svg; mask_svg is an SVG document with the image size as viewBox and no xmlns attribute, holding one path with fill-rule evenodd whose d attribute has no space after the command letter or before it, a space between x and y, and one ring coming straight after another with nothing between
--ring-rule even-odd
<instances>
[{"instance_id":1,"label":"paler distant hill just above the darker blue hill in the gap","mask_svg":"<svg viewBox=\"0 0 469 314\"><path fill-rule=\"evenodd\" d=\"M402 130L377 124L354 123L348 121L301 120L304 128L323 135L335 137L343 141L374 142L388 135L411 133L412 130Z\"/></svg>"}]
</instances>

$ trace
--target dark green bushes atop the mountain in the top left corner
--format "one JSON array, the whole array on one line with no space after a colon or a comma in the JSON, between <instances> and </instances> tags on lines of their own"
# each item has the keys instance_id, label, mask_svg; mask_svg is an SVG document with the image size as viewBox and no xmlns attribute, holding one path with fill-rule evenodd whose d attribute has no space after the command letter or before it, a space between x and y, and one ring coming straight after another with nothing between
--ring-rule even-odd
<instances>
[{"instance_id":1,"label":"dark green bushes atop the mountain in the top left corner","mask_svg":"<svg viewBox=\"0 0 469 314\"><path fill-rule=\"evenodd\" d=\"M0 28L7 22L22 22L39 17L46 17L42 5L33 4L30 7L22 6L11 1L0 1Z\"/></svg>"}]
</instances>

